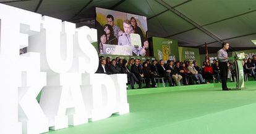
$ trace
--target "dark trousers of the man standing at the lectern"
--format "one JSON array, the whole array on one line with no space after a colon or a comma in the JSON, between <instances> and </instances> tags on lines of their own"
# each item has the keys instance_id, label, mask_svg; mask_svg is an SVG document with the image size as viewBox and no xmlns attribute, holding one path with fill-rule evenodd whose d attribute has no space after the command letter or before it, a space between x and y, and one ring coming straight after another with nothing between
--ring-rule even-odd
<instances>
[{"instance_id":1,"label":"dark trousers of the man standing at the lectern","mask_svg":"<svg viewBox=\"0 0 256 134\"><path fill-rule=\"evenodd\" d=\"M219 67L221 71L221 85L222 89L227 89L227 79L228 79L228 63L219 62Z\"/></svg>"}]
</instances>

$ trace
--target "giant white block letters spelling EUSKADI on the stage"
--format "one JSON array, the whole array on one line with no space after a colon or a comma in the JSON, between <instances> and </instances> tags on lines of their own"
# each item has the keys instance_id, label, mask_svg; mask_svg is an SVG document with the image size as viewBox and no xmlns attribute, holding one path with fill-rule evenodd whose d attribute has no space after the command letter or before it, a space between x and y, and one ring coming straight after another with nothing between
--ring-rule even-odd
<instances>
[{"instance_id":1,"label":"giant white block letters spelling EUSKADI on the stage","mask_svg":"<svg viewBox=\"0 0 256 134\"><path fill-rule=\"evenodd\" d=\"M126 74L95 74L96 36L0 4L0 133L45 133L129 112Z\"/></svg>"}]
</instances>

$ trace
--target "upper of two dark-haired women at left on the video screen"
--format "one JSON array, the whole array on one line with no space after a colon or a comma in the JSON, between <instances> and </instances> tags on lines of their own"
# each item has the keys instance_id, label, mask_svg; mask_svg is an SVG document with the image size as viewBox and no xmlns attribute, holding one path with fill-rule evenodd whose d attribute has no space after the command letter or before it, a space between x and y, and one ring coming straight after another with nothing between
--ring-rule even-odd
<instances>
[{"instance_id":1,"label":"upper of two dark-haired women at left on the video screen","mask_svg":"<svg viewBox=\"0 0 256 134\"><path fill-rule=\"evenodd\" d=\"M107 37L108 37L108 42L106 44L117 45L118 40L114 36L114 30L113 30L112 26L109 24L106 24L104 26L104 31L106 32Z\"/></svg>"}]
</instances>

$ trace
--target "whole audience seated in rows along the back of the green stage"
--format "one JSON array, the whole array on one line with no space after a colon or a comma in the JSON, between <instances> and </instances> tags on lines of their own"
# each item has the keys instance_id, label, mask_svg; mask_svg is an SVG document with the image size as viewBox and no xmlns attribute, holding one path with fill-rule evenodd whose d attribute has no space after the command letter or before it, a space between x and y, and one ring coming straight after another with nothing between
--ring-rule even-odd
<instances>
[{"instance_id":1,"label":"whole audience seated in rows along the back of the green stage","mask_svg":"<svg viewBox=\"0 0 256 134\"><path fill-rule=\"evenodd\" d=\"M244 61L244 71L253 76L256 80L255 74L255 62L256 56L253 59ZM233 63L228 62L228 79L231 82L234 80L234 67ZM155 78L164 77L168 80L170 86L179 85L181 82L184 85L188 84L203 84L205 81L210 83L211 81L220 82L220 68L218 61L213 60L213 63L207 61L203 62L200 68L197 65L197 61L184 61L179 62L168 60L166 63L163 60L159 62L153 60L142 61L139 59L130 58L129 61L116 57L110 60L109 57L100 57L100 65L96 73L106 74L127 74L130 86L134 89L134 84L139 84L139 88L142 88L141 79L145 79L146 87L156 87ZM151 81L151 85L150 85Z\"/></svg>"}]
</instances>

